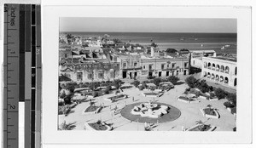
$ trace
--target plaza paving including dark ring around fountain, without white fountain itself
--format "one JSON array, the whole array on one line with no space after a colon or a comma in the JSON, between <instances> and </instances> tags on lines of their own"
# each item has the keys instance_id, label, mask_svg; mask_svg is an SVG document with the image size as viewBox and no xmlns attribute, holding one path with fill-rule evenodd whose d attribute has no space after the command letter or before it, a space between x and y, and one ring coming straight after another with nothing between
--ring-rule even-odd
<instances>
[{"instance_id":1,"label":"plaza paving including dark ring around fountain, without white fountain itself","mask_svg":"<svg viewBox=\"0 0 256 148\"><path fill-rule=\"evenodd\" d=\"M130 86L130 83L125 83L124 86ZM132 86L132 85L131 85ZM175 88L167 91L160 97L145 97L142 92L134 86L123 89L120 94L127 94L128 97L115 102L104 100L113 97L115 94L104 94L93 99L84 99L78 105L73 107L67 116L59 115L59 125L62 122L73 123L73 130L84 130L84 123L98 122L99 120L108 123L112 126L113 131L143 131L144 122L154 124L152 130L154 131L182 131L183 128L190 128L195 126L196 122L201 121L207 125L215 128L214 131L233 131L236 127L236 117L230 111L224 108L222 100L200 100L196 104L186 104L176 100L176 98L183 94L184 90L189 86L180 81ZM149 93L150 91L148 91ZM84 111L90 106L91 101L96 106L103 106L102 110L98 113L84 114ZM173 109L177 109L175 117L172 115L164 115L157 119L147 119L147 117L134 116L131 117L131 108L144 102L152 102L153 104L170 105L172 113ZM218 119L204 117L200 109L211 105L218 110L220 115ZM180 111L178 113L178 111Z\"/></svg>"}]
</instances>

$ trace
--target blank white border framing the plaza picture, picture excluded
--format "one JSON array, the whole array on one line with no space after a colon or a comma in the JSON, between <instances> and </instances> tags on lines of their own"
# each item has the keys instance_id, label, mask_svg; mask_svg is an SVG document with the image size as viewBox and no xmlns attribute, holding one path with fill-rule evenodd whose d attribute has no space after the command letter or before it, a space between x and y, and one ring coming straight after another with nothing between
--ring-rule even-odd
<instances>
[{"instance_id":1,"label":"blank white border framing the plaza picture, picture excluded","mask_svg":"<svg viewBox=\"0 0 256 148\"><path fill-rule=\"evenodd\" d=\"M251 9L186 6L43 6L44 144L224 144L252 141ZM100 11L98 11L100 10ZM102 13L104 12L104 13ZM182 13L179 13L182 12ZM202 13L203 12L203 13ZM78 15L79 14L79 15ZM60 17L237 19L236 132L89 132L57 130L58 36ZM246 78L244 78L246 77ZM247 91L244 91L247 90ZM142 138L145 137L145 138ZM214 137L214 138L212 138Z\"/></svg>"}]
</instances>

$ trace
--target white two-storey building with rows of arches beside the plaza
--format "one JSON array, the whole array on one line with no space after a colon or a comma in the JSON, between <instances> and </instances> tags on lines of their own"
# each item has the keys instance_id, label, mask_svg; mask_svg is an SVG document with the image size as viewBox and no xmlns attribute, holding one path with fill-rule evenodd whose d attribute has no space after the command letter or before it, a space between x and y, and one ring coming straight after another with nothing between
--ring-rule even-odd
<instances>
[{"instance_id":1,"label":"white two-storey building with rows of arches beside the plaza","mask_svg":"<svg viewBox=\"0 0 256 148\"><path fill-rule=\"evenodd\" d=\"M201 77L214 83L230 88L236 88L237 65L236 58L230 57L203 57Z\"/></svg>"}]
</instances>

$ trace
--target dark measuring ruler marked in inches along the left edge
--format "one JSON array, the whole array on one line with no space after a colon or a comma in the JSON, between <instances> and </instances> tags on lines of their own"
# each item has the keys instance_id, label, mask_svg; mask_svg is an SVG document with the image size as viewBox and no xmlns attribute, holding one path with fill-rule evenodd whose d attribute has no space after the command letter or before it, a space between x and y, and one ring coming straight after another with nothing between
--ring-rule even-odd
<instances>
[{"instance_id":1,"label":"dark measuring ruler marked in inches along the left edge","mask_svg":"<svg viewBox=\"0 0 256 148\"><path fill-rule=\"evenodd\" d=\"M35 4L4 5L3 148L40 147L41 17ZM24 131L19 131L19 102L24 104Z\"/></svg>"}]
</instances>

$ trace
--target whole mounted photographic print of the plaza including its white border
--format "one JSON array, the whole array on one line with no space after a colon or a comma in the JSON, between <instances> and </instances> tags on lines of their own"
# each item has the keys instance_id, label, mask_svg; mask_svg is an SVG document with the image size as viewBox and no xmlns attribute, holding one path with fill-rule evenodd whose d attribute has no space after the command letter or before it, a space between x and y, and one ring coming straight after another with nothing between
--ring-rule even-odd
<instances>
[{"instance_id":1,"label":"whole mounted photographic print of the plaza including its white border","mask_svg":"<svg viewBox=\"0 0 256 148\"><path fill-rule=\"evenodd\" d=\"M53 5L44 19L45 143L249 142L250 9Z\"/></svg>"}]
</instances>

